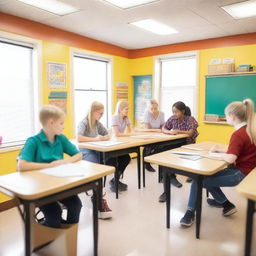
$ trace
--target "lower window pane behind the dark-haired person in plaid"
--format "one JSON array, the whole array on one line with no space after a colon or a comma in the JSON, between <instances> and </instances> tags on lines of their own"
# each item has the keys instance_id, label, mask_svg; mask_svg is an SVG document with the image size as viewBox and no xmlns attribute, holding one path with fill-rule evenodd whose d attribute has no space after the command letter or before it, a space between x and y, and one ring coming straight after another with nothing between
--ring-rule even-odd
<instances>
[{"instance_id":1,"label":"lower window pane behind the dark-haired person in plaid","mask_svg":"<svg viewBox=\"0 0 256 256\"><path fill-rule=\"evenodd\" d=\"M167 88L163 89L161 93L161 110L164 112L165 118L172 115L172 105L177 101L183 101L190 107L191 114L194 110L194 88Z\"/></svg>"}]
</instances>

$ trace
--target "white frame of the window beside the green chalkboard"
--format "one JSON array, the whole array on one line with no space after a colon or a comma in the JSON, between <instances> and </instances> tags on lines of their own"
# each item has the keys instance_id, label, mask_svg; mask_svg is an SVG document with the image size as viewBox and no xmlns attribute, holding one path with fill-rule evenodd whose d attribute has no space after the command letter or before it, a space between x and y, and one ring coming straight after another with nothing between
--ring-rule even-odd
<instances>
[{"instance_id":1,"label":"white frame of the window beside the green chalkboard","mask_svg":"<svg viewBox=\"0 0 256 256\"><path fill-rule=\"evenodd\" d=\"M178 52L178 53L170 53L164 55L154 56L154 90L153 96L154 98L160 102L161 100L161 88L162 88L162 70L161 70L161 61L168 59L179 59L186 57L195 57L196 58L196 84L194 86L193 100L194 100L194 108L192 110L193 116L198 120L198 109L199 109L199 52L198 51L188 51L188 52ZM172 88L179 88L178 86L172 86ZM183 86L182 88L191 88L191 86Z\"/></svg>"}]
</instances>

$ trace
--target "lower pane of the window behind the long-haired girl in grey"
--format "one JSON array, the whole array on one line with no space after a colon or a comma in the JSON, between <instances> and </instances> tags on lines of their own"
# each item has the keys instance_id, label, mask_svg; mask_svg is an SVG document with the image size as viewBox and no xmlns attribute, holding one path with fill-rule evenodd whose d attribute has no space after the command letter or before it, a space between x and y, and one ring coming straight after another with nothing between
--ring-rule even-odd
<instances>
[{"instance_id":1,"label":"lower pane of the window behind the long-haired girl in grey","mask_svg":"<svg viewBox=\"0 0 256 256\"><path fill-rule=\"evenodd\" d=\"M75 125L77 131L78 123L85 118L90 104L97 100L105 106L105 112L100 122L107 127L107 93L101 91L75 91ZM77 133L77 132L76 132Z\"/></svg>"}]
</instances>

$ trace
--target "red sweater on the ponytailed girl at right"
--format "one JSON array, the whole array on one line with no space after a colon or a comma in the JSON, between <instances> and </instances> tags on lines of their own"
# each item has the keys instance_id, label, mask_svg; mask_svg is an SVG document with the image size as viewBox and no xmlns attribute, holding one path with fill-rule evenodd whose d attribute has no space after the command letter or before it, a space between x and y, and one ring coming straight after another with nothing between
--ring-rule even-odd
<instances>
[{"instance_id":1,"label":"red sweater on the ponytailed girl at right","mask_svg":"<svg viewBox=\"0 0 256 256\"><path fill-rule=\"evenodd\" d=\"M235 168L244 174L256 167L256 146L246 132L246 125L232 134L227 153L237 156Z\"/></svg>"}]
</instances>

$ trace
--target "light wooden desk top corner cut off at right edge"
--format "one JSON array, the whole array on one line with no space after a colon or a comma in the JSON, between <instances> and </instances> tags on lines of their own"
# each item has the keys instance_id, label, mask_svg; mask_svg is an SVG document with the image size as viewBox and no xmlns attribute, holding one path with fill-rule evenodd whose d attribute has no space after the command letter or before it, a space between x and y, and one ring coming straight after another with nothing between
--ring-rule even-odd
<instances>
[{"instance_id":1,"label":"light wooden desk top corner cut off at right edge","mask_svg":"<svg viewBox=\"0 0 256 256\"><path fill-rule=\"evenodd\" d=\"M256 168L254 168L236 187L248 199L256 201Z\"/></svg>"}]
</instances>

